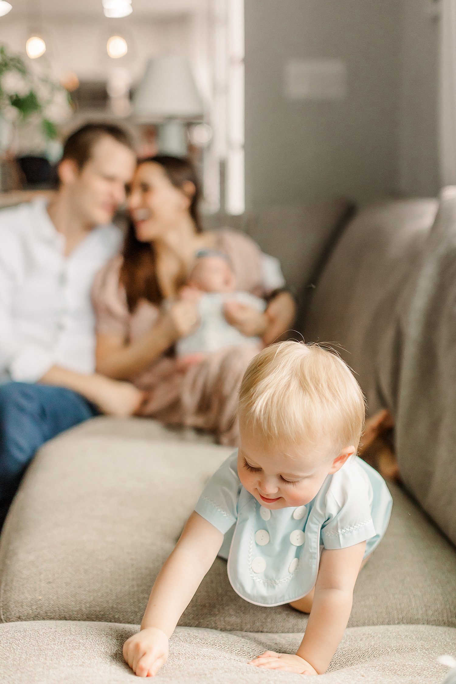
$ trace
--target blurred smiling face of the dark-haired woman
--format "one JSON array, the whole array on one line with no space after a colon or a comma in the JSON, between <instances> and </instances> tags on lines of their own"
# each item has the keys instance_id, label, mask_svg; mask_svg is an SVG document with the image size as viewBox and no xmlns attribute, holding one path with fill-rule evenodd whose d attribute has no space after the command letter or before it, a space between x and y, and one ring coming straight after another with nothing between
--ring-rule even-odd
<instances>
[{"instance_id":1,"label":"blurred smiling face of the dark-haired woman","mask_svg":"<svg viewBox=\"0 0 456 684\"><path fill-rule=\"evenodd\" d=\"M189 214L194 186L188 185L183 189L174 187L158 163L139 164L129 193L129 211L139 241L151 242L164 237Z\"/></svg>"}]
</instances>

